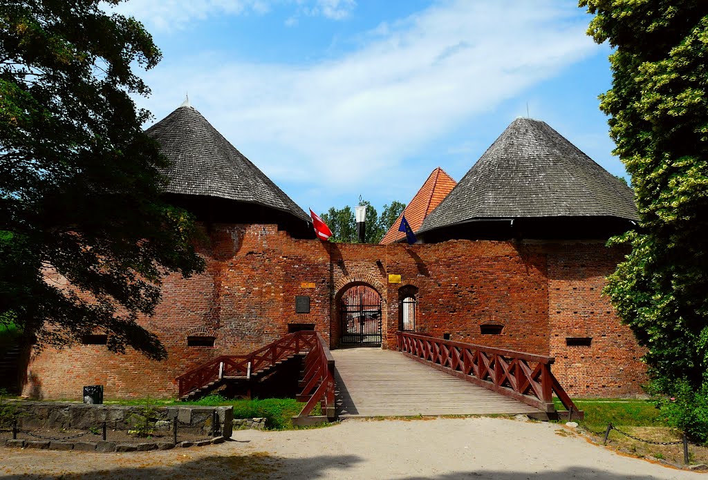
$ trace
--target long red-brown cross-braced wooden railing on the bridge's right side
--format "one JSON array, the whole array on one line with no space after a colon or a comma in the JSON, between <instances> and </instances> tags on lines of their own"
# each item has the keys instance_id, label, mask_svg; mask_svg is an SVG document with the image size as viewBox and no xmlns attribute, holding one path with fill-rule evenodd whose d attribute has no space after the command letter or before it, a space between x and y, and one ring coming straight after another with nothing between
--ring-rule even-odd
<instances>
[{"instance_id":1,"label":"long red-brown cross-braced wooden railing on the bridge's right side","mask_svg":"<svg viewBox=\"0 0 708 480\"><path fill-rule=\"evenodd\" d=\"M549 414L555 412L555 393L571 416L583 415L551 372L552 357L404 332L396 332L396 348L431 367Z\"/></svg>"}]
</instances>

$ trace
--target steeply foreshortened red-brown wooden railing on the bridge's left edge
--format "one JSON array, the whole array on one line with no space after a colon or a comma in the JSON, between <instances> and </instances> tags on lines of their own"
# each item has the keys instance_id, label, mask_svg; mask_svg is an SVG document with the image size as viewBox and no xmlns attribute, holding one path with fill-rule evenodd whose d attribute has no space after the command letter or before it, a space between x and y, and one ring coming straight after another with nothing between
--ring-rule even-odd
<instances>
[{"instance_id":1,"label":"steeply foreshortened red-brown wooden railing on the bridge's left edge","mask_svg":"<svg viewBox=\"0 0 708 480\"><path fill-rule=\"evenodd\" d=\"M308 417L316 404L321 405L322 418L328 420L336 418L334 407L334 358L327 348L327 344L320 334L317 334L316 346L307 353L304 359L304 376L299 382L302 388L297 400L307 402L295 417L293 423L304 425L303 418ZM299 421L297 421L299 420Z\"/></svg>"}]
</instances>

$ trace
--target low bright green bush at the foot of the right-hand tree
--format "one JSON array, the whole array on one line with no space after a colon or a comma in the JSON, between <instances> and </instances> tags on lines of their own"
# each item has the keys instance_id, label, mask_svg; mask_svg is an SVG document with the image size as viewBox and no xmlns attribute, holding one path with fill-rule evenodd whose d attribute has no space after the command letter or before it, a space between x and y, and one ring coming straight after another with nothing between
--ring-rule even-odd
<instances>
[{"instance_id":1,"label":"low bright green bush at the foot of the right-hand tree","mask_svg":"<svg viewBox=\"0 0 708 480\"><path fill-rule=\"evenodd\" d=\"M708 444L708 383L694 391L687 380L676 382L670 397L661 397L656 406L669 426L678 428L697 443Z\"/></svg>"}]
</instances>

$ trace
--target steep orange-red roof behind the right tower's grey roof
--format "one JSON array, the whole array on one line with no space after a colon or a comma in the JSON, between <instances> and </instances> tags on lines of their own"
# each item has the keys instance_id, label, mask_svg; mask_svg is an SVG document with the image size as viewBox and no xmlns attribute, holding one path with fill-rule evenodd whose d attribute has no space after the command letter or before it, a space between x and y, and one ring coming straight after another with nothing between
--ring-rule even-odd
<instances>
[{"instance_id":1,"label":"steep orange-red roof behind the right tower's grey roof","mask_svg":"<svg viewBox=\"0 0 708 480\"><path fill-rule=\"evenodd\" d=\"M406 240L406 234L399 232L401 226L401 218L405 215L413 232L417 232L423 220L432 212L440 202L447 197L447 194L457 185L455 180L452 180L450 175L445 173L445 170L438 167L433 170L428 176L428 180L423 183L423 187L418 190L418 193L409 201L409 204L404 209L403 213L396 218L394 224L389 228L389 231L381 239L382 244L388 244Z\"/></svg>"}]
</instances>

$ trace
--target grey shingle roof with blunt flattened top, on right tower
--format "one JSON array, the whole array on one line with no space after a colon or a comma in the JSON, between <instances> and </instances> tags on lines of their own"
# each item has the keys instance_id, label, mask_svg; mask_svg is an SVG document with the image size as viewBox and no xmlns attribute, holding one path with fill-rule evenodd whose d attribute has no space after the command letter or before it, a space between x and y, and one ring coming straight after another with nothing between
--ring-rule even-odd
<instances>
[{"instance_id":1,"label":"grey shingle roof with blunt flattened top, on right tower","mask_svg":"<svg viewBox=\"0 0 708 480\"><path fill-rule=\"evenodd\" d=\"M587 216L636 220L632 189L545 122L518 118L420 231L475 219Z\"/></svg>"}]
</instances>

